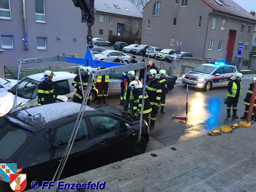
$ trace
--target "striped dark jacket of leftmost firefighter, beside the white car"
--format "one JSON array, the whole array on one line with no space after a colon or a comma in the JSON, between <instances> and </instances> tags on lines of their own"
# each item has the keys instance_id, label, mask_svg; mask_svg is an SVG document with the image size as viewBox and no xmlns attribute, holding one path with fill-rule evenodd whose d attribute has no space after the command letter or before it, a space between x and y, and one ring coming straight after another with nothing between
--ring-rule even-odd
<instances>
[{"instance_id":1,"label":"striped dark jacket of leftmost firefighter, beside the white car","mask_svg":"<svg viewBox=\"0 0 256 192\"><path fill-rule=\"evenodd\" d=\"M53 103L55 100L50 98L56 98L57 94L54 92L53 81L43 80L38 85L38 105L45 105ZM48 97L48 98L46 98Z\"/></svg>"}]
</instances>

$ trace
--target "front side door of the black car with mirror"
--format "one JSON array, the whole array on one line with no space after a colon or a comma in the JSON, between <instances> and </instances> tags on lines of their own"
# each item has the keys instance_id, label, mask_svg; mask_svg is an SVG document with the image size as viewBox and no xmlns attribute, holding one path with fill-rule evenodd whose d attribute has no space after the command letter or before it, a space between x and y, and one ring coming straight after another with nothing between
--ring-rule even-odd
<instances>
[{"instance_id":1,"label":"front side door of the black car with mirror","mask_svg":"<svg viewBox=\"0 0 256 192\"><path fill-rule=\"evenodd\" d=\"M89 116L95 141L98 145L98 160L109 164L131 154L132 134L130 130L122 131L125 123L112 116Z\"/></svg>"}]
</instances>

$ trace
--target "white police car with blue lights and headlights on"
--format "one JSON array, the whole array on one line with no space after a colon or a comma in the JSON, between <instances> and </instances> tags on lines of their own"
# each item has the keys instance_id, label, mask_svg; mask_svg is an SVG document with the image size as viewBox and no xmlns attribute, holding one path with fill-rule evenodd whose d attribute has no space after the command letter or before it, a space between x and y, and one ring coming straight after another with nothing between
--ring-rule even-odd
<instances>
[{"instance_id":1,"label":"white police car with blue lights and headlights on","mask_svg":"<svg viewBox=\"0 0 256 192\"><path fill-rule=\"evenodd\" d=\"M212 87L227 86L237 72L236 66L209 61L184 74L182 84L209 91Z\"/></svg>"}]
</instances>

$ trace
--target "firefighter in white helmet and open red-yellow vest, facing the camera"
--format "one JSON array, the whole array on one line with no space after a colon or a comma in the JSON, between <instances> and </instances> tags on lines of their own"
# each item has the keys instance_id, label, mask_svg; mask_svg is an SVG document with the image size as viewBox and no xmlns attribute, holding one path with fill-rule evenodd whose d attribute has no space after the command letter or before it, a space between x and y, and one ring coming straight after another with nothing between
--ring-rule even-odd
<instances>
[{"instance_id":1,"label":"firefighter in white helmet and open red-yellow vest, facing the camera","mask_svg":"<svg viewBox=\"0 0 256 192\"><path fill-rule=\"evenodd\" d=\"M128 106L132 109L134 104L134 97L132 95L132 90L130 89L130 82L134 81L135 72L129 71L127 77L121 82L121 101L124 100L123 110L128 111ZM138 80L135 80L138 81Z\"/></svg>"}]
</instances>

